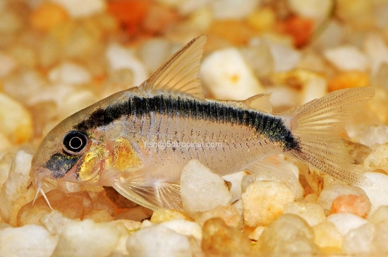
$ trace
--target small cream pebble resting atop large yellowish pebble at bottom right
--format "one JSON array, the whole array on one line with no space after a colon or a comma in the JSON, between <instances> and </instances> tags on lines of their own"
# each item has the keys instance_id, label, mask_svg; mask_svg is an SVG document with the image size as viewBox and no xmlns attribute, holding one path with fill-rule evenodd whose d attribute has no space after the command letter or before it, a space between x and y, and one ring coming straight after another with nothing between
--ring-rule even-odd
<instances>
[{"instance_id":1,"label":"small cream pebble resting atop large yellowish pebble at bottom right","mask_svg":"<svg viewBox=\"0 0 388 257\"><path fill-rule=\"evenodd\" d=\"M283 209L284 213L296 214L303 218L311 227L326 220L325 212L322 207L316 203L292 202L286 203Z\"/></svg>"}]
</instances>

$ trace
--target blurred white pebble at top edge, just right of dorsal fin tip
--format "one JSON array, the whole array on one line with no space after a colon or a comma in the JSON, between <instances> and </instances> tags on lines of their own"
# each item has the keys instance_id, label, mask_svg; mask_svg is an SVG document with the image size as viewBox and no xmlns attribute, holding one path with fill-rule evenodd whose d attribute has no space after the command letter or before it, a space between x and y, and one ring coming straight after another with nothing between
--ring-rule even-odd
<instances>
[{"instance_id":1,"label":"blurred white pebble at top edge, just right of dorsal fin tip","mask_svg":"<svg viewBox=\"0 0 388 257\"><path fill-rule=\"evenodd\" d=\"M212 2L214 18L216 19L238 19L245 18L251 13L260 0L215 0Z\"/></svg>"}]
</instances>

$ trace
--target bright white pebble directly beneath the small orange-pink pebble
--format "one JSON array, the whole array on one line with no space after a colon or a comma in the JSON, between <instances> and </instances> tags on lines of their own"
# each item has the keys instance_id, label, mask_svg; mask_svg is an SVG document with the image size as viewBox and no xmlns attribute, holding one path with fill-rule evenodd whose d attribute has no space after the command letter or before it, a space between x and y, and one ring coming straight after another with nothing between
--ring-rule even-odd
<instances>
[{"instance_id":1,"label":"bright white pebble directly beneath the small orange-pink pebble","mask_svg":"<svg viewBox=\"0 0 388 257\"><path fill-rule=\"evenodd\" d=\"M352 213L335 213L327 216L327 221L333 222L343 236L348 234L349 231L368 223L368 220Z\"/></svg>"}]
</instances>

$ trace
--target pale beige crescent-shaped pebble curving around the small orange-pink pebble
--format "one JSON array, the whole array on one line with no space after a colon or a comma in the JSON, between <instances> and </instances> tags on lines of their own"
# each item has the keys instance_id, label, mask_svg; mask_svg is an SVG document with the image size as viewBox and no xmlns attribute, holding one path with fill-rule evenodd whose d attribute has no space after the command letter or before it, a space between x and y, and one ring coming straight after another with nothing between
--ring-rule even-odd
<instances>
[{"instance_id":1,"label":"pale beige crescent-shaped pebble curving around the small orange-pink pebble","mask_svg":"<svg viewBox=\"0 0 388 257\"><path fill-rule=\"evenodd\" d=\"M328 214L330 209L332 208L333 200L336 199L337 196L340 196L341 194L361 195L361 196L365 196L365 198L368 199L367 194L365 194L365 192L359 187L351 187L351 186L348 186L347 184L333 183L333 184L329 184L329 186L325 187L325 189L322 190L320 194L320 198L317 201L317 204L322 206L325 213Z\"/></svg>"}]
</instances>

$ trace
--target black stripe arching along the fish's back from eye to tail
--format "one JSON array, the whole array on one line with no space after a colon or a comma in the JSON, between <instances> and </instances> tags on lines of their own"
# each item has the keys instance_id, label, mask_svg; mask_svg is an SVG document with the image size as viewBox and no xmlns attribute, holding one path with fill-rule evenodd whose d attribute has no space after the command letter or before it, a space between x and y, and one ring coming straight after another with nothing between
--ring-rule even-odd
<instances>
[{"instance_id":1,"label":"black stripe arching along the fish's back from eye to tail","mask_svg":"<svg viewBox=\"0 0 388 257\"><path fill-rule=\"evenodd\" d=\"M283 146L284 151L300 150L298 140L284 125L281 118L257 111L226 106L215 101L200 102L195 99L182 99L174 96L157 95L150 98L131 96L127 101L116 102L105 110L97 108L87 120L75 125L76 130L87 131L114 123L123 115L143 116L157 112L171 118L192 118L194 120L210 120L214 123L243 125Z\"/></svg>"}]
</instances>

